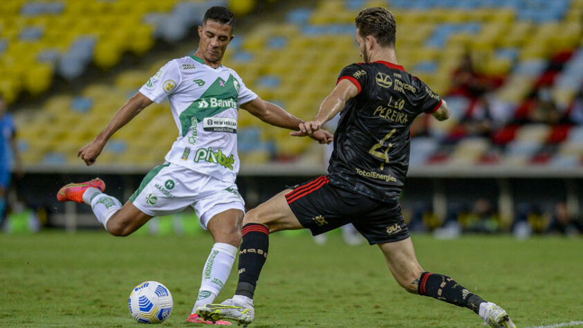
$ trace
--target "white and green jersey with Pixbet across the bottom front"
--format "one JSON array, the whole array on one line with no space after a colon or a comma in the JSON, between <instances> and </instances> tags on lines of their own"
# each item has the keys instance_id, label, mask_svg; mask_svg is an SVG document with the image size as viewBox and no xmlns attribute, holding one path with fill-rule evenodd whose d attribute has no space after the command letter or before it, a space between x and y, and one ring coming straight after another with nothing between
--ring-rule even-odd
<instances>
[{"instance_id":1,"label":"white and green jersey with Pixbet across the bottom front","mask_svg":"<svg viewBox=\"0 0 583 328\"><path fill-rule=\"evenodd\" d=\"M213 69L195 56L171 60L140 88L160 103L166 96L178 138L165 160L234 182L239 172L237 111L257 95L225 66Z\"/></svg>"}]
</instances>

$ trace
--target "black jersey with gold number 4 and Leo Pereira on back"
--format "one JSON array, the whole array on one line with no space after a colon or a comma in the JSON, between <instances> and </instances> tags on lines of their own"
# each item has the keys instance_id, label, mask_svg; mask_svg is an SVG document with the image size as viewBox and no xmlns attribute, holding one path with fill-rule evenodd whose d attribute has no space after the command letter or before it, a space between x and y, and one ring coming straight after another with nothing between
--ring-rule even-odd
<instances>
[{"instance_id":1,"label":"black jersey with gold number 4 and Leo Pereira on back","mask_svg":"<svg viewBox=\"0 0 583 328\"><path fill-rule=\"evenodd\" d=\"M334 134L330 183L373 199L399 197L409 167L409 127L441 98L423 81L389 62L346 66L338 78L358 95L346 102Z\"/></svg>"}]
</instances>

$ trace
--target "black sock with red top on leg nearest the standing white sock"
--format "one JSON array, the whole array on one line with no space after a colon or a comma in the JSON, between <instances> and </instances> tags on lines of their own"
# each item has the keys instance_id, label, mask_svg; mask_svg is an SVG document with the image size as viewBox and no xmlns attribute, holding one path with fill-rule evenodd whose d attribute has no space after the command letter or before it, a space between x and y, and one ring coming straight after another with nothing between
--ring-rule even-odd
<instances>
[{"instance_id":1,"label":"black sock with red top on leg nearest the standing white sock","mask_svg":"<svg viewBox=\"0 0 583 328\"><path fill-rule=\"evenodd\" d=\"M242 230L243 241L239 248L239 283L236 295L253 298L259 273L267 259L269 230L263 224L246 224Z\"/></svg>"}]
</instances>

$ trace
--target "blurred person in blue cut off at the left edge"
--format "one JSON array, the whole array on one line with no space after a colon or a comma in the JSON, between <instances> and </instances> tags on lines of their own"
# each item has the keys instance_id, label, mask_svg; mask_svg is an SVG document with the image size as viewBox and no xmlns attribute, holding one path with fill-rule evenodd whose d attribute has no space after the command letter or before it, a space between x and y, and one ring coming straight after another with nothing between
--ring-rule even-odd
<instances>
[{"instance_id":1,"label":"blurred person in blue cut off at the left edge","mask_svg":"<svg viewBox=\"0 0 583 328\"><path fill-rule=\"evenodd\" d=\"M14 161L17 175L22 174L20 156L16 147L16 127L12 116L7 112L6 102L0 95L0 226L6 219L8 208L7 194L12 172L10 164Z\"/></svg>"}]
</instances>

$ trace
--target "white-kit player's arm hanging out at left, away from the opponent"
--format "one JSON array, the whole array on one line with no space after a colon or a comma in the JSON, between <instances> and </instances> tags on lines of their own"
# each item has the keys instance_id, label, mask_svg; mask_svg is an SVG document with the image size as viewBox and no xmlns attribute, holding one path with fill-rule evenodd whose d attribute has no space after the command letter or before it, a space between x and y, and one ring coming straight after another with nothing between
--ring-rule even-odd
<instances>
[{"instance_id":1,"label":"white-kit player's arm hanging out at left, away from the opponent","mask_svg":"<svg viewBox=\"0 0 583 328\"><path fill-rule=\"evenodd\" d=\"M115 134L115 131L121 129L126 125L132 118L136 117L142 109L145 109L152 103L149 98L142 93L136 93L126 104L124 104L117 113L111 118L107 127L101 131L98 136L95 137L89 145L86 145L79 149L77 152L77 157L80 157L85 161L86 165L93 165L95 160L101 154L103 147L107 143L107 140Z\"/></svg>"}]
</instances>

